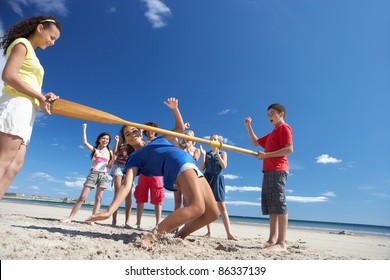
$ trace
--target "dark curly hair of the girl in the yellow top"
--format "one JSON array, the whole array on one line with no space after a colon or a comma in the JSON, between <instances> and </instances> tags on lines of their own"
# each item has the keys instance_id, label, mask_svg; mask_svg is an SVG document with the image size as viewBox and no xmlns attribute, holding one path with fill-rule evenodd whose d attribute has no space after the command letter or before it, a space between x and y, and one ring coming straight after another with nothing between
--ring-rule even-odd
<instances>
[{"instance_id":1,"label":"dark curly hair of the girl in the yellow top","mask_svg":"<svg viewBox=\"0 0 390 280\"><path fill-rule=\"evenodd\" d=\"M51 24L55 24L60 32L62 29L59 21L53 16L36 16L19 21L5 30L4 35L1 37L0 47L4 50L3 54L6 54L9 45L11 45L16 39L27 39L32 33L34 33L38 24L42 24L43 28L48 28Z\"/></svg>"}]
</instances>

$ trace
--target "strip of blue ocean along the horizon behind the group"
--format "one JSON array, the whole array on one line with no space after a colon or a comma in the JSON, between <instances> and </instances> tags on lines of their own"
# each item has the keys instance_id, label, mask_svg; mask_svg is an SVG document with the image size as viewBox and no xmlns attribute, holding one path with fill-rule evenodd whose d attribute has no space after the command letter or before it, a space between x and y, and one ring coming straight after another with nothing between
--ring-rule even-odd
<instances>
[{"instance_id":1,"label":"strip of blue ocean along the horizon behind the group","mask_svg":"<svg viewBox=\"0 0 390 280\"><path fill-rule=\"evenodd\" d=\"M32 200L32 199L15 199L15 198L6 198L2 200L7 202L17 202L17 203L26 203L26 204L36 204L36 205L46 205L52 207L65 207L71 209L73 203L67 202L57 202L57 201L47 201L47 200ZM106 209L108 206L101 206L101 209ZM91 209L93 205L83 204L83 209ZM124 213L124 208L120 207L118 210L120 213ZM135 209L133 209L135 213ZM163 211L162 217L169 215L169 211ZM144 215L154 216L154 210L144 210ZM259 225L259 226L268 226L268 218L254 218L254 217L239 217L239 216L229 216L230 222L232 224L250 224L250 225ZM303 220L288 220L289 228L297 229L307 229L307 230L321 230L332 233L347 232L353 234L366 234L366 235L379 235L379 236L390 236L390 227L389 226L378 226L378 225L362 225L362 224L349 224L349 223L334 223L334 222L320 222L320 221L303 221Z\"/></svg>"}]
</instances>

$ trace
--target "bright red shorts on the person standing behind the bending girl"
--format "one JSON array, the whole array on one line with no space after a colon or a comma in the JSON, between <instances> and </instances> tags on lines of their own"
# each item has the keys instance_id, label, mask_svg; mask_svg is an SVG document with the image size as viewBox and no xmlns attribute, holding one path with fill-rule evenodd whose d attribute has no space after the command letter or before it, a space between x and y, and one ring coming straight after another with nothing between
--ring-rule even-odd
<instances>
[{"instance_id":1,"label":"bright red shorts on the person standing behind the bending girl","mask_svg":"<svg viewBox=\"0 0 390 280\"><path fill-rule=\"evenodd\" d=\"M148 202L150 190L150 203L153 205L161 205L165 194L162 186L162 177L160 176L138 176L138 184L134 190L134 197L136 203Z\"/></svg>"}]
</instances>

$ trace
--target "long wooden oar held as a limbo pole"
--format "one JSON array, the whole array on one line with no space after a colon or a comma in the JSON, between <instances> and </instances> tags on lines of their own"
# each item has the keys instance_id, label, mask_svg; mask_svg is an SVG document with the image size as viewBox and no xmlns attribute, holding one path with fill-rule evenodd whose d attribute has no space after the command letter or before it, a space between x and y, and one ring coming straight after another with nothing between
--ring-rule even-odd
<instances>
[{"instance_id":1,"label":"long wooden oar held as a limbo pole","mask_svg":"<svg viewBox=\"0 0 390 280\"><path fill-rule=\"evenodd\" d=\"M174 136L180 139L190 140L197 143L209 145L211 147L216 147L218 149L226 149L234 152L239 152L247 155L257 155L257 152L243 149L236 146L231 146L224 144L219 141L210 141L199 137L194 137L190 135L186 135L183 133L178 133L171 130L166 130L158 127L148 126L140 123L130 122L126 121L124 119L121 119L115 115L106 113L104 111L88 107L85 105L81 105L79 103L75 103L72 101L68 101L65 99L56 99L52 102L51 105L51 113L63 117L69 117L74 119L80 119L80 120L86 120L91 122L100 122L100 123L107 123L107 124L124 124L124 125L130 125L134 126L139 129L143 130L149 130L154 131L156 133Z\"/></svg>"}]
</instances>

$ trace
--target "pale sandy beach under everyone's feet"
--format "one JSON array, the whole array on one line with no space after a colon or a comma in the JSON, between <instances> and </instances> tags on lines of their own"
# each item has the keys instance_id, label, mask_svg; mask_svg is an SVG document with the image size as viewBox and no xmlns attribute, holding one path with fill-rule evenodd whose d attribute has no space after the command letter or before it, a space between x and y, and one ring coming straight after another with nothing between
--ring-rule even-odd
<instances>
[{"instance_id":1,"label":"pale sandy beach under everyone's feet","mask_svg":"<svg viewBox=\"0 0 390 280\"><path fill-rule=\"evenodd\" d=\"M1 260L389 260L390 237L337 234L289 229L288 252L259 249L268 237L268 227L232 223L239 241L226 239L222 223L213 224L213 237L206 229L186 240L164 236L150 251L135 246L154 226L154 217L143 216L143 229L125 229L111 220L89 225L90 210L81 209L71 224L60 220L69 208L0 202ZM135 221L135 213L132 214Z\"/></svg>"}]
</instances>

